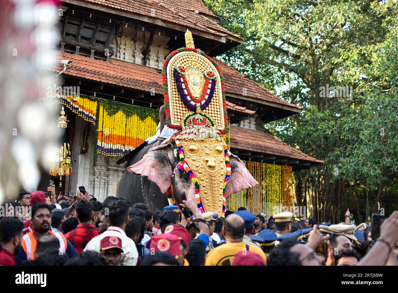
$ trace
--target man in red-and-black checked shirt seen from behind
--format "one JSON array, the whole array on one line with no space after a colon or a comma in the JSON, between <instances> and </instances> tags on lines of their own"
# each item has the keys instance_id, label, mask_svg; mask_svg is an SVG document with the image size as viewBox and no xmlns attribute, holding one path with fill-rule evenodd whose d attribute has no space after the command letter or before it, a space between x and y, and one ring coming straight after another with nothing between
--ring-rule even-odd
<instances>
[{"instance_id":1,"label":"man in red-and-black checked shirt seen from behind","mask_svg":"<svg viewBox=\"0 0 398 293\"><path fill-rule=\"evenodd\" d=\"M80 253L84 250L87 243L98 236L98 229L91 224L92 217L94 216L93 204L90 201L81 200L75 204L76 218L79 224L76 229L65 234L65 238L72 243L76 252Z\"/></svg>"}]
</instances>

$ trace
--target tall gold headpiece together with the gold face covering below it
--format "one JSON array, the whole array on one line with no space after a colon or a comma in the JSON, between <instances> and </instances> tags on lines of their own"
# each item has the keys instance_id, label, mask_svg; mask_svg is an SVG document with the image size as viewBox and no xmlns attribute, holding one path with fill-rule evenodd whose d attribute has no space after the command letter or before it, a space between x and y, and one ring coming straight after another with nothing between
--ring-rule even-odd
<instances>
[{"instance_id":1,"label":"tall gold headpiece together with the gold face covering below it","mask_svg":"<svg viewBox=\"0 0 398 293\"><path fill-rule=\"evenodd\" d=\"M163 65L166 124L180 130L173 138L181 159L178 170L187 172L195 185L198 211L224 216L225 186L232 172L220 136L228 131L224 77L211 57L195 49L188 30L185 45Z\"/></svg>"}]
</instances>

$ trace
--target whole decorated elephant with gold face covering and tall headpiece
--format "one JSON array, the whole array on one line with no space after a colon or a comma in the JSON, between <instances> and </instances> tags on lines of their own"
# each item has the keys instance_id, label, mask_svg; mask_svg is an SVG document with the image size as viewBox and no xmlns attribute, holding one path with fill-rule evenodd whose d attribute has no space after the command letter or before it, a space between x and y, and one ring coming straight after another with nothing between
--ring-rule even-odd
<instances>
[{"instance_id":1,"label":"whole decorated elephant with gold face covering and tall headpiece","mask_svg":"<svg viewBox=\"0 0 398 293\"><path fill-rule=\"evenodd\" d=\"M135 175L125 172L117 196L151 210L188 199L198 212L224 216L226 198L258 182L222 138L229 126L218 64L195 49L190 31L185 43L162 70L165 124L176 132L160 146L135 150L127 167Z\"/></svg>"}]
</instances>

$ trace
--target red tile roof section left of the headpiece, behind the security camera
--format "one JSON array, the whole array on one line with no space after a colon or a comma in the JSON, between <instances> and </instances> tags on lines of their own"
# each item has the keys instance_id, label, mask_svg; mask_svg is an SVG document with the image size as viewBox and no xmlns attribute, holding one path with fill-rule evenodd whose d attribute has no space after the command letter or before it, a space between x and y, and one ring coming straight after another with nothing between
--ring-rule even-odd
<instances>
[{"instance_id":1,"label":"red tile roof section left of the headpiece, behind the security camera","mask_svg":"<svg viewBox=\"0 0 398 293\"><path fill-rule=\"evenodd\" d=\"M63 73L64 75L119 85L144 92L150 92L151 88L154 88L157 94L163 93L162 75L153 68L115 59L110 59L110 62L106 62L61 51L54 51L54 54L57 56L56 64L59 65L52 68L53 71L62 71L61 59L72 61L72 64Z\"/></svg>"}]
</instances>

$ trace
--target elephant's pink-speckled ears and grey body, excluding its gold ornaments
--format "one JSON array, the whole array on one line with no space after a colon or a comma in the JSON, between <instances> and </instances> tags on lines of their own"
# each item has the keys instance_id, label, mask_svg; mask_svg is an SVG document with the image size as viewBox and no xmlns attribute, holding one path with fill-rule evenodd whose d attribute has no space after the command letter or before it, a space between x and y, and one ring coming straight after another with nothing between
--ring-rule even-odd
<instances>
[{"instance_id":1,"label":"elephant's pink-speckled ears and grey body, excluding its gold ornaments","mask_svg":"<svg viewBox=\"0 0 398 293\"><path fill-rule=\"evenodd\" d=\"M130 172L125 172L121 177L116 196L132 203L147 203L152 211L161 210L169 205L168 198L171 198L171 194L166 193L170 193L169 188L172 186L172 194L177 203L185 199L196 202L195 184L185 170L178 168L181 159L176 155L176 144L162 144L148 151L152 146L153 144L143 145L129 156L127 165L131 167L127 169ZM225 188L226 198L257 184L236 155L231 154L229 158L232 174Z\"/></svg>"}]
</instances>

